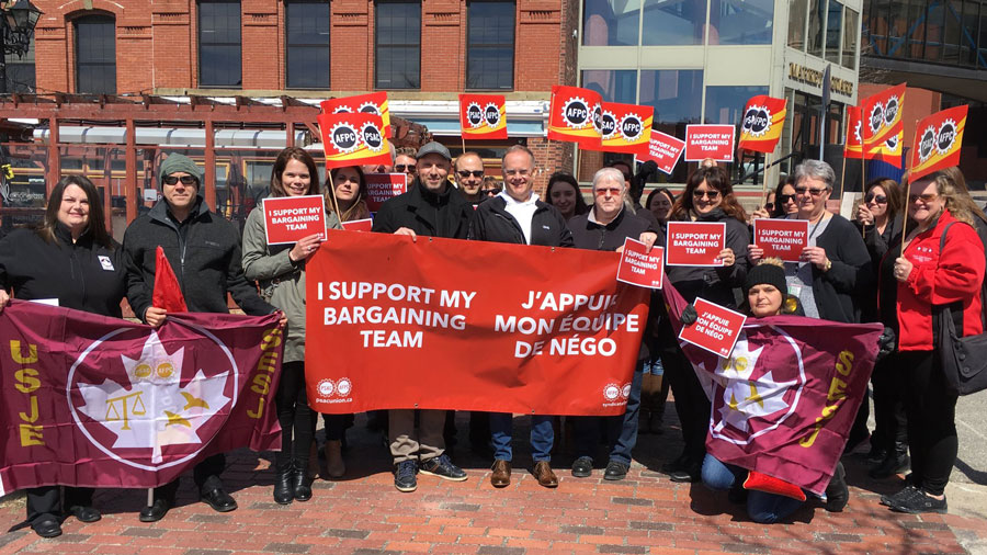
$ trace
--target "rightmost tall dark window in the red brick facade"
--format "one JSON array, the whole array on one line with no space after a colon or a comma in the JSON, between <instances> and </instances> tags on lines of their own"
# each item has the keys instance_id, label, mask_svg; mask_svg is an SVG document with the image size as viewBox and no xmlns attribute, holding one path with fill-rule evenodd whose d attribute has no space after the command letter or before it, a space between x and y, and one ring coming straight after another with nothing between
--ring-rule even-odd
<instances>
[{"instance_id":1,"label":"rightmost tall dark window in the red brick facade","mask_svg":"<svg viewBox=\"0 0 987 555\"><path fill-rule=\"evenodd\" d=\"M466 88L514 88L514 2L466 4Z\"/></svg>"}]
</instances>

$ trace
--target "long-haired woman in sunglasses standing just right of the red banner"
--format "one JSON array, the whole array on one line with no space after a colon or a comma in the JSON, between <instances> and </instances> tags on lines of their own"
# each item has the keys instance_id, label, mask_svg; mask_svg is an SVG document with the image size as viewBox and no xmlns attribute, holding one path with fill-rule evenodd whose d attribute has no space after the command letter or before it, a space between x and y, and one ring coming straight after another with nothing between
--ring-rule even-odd
<instances>
[{"instance_id":1,"label":"long-haired woman in sunglasses standing just right of the red banner","mask_svg":"<svg viewBox=\"0 0 987 555\"><path fill-rule=\"evenodd\" d=\"M719 252L722 267L668 267L668 280L687 302L695 297L730 308L737 307L734 288L744 285L747 276L747 245L750 233L747 214L730 186L723 167L696 168L687 180L685 191L672 205L670 222L722 222L726 225L726 248ZM665 235L665 231L662 231ZM663 305L661 305L663 306ZM673 482L699 482L706 456L706 428L710 421L710 399L692 370L692 364L678 347L676 333L661 318L659 344L665 378L676 398L676 412L682 424L684 449L662 472Z\"/></svg>"}]
</instances>

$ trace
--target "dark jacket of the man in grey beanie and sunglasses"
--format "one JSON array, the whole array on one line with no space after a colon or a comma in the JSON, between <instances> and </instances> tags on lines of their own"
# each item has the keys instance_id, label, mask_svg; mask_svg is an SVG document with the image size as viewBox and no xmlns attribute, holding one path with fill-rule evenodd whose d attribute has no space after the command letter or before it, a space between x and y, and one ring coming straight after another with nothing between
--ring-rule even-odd
<instances>
[{"instance_id":1,"label":"dark jacket of the man in grey beanie and sunglasses","mask_svg":"<svg viewBox=\"0 0 987 555\"><path fill-rule=\"evenodd\" d=\"M144 319L145 310L151 306L159 245L174 270L190 312L228 313L227 293L249 315L274 312L243 276L240 233L235 224L209 212L201 199L189 219L178 224L161 200L124 234L127 299L139 318Z\"/></svg>"}]
</instances>

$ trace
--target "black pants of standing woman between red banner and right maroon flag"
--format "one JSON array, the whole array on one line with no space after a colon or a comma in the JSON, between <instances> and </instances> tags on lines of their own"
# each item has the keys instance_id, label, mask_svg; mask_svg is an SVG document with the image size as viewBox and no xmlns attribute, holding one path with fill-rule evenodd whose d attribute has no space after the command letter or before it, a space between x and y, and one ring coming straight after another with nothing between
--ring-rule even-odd
<instances>
[{"instance_id":1,"label":"black pants of standing woman between red banner and right maroon flag","mask_svg":"<svg viewBox=\"0 0 987 555\"><path fill-rule=\"evenodd\" d=\"M685 442L682 455L688 458L688 464L700 465L706 456L706 431L712 410L710 399L692 364L678 346L661 351L661 365L676 397L676 414L679 415L682 440Z\"/></svg>"}]
</instances>

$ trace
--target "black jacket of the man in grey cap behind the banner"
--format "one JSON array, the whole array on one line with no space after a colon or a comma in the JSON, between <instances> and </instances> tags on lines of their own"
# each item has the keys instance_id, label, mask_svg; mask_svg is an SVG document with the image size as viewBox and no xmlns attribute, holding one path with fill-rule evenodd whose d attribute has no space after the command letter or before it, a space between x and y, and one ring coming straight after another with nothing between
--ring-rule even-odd
<instances>
[{"instance_id":1,"label":"black jacket of the man in grey cap behind the banner","mask_svg":"<svg viewBox=\"0 0 987 555\"><path fill-rule=\"evenodd\" d=\"M418 178L407 193L386 201L374 217L373 230L393 234L407 227L418 235L465 239L473 216L473 205L451 184L442 193L433 193Z\"/></svg>"}]
</instances>

